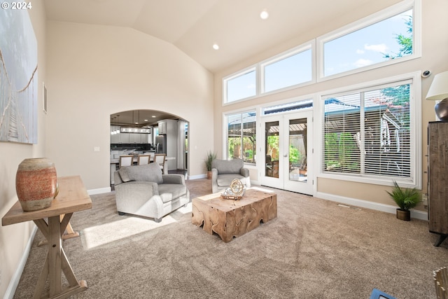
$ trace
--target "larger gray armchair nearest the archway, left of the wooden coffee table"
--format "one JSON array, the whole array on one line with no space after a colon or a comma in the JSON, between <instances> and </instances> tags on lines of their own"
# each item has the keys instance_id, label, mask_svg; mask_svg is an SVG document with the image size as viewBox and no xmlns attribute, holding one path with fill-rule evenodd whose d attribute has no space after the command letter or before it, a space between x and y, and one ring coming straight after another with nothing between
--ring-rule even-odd
<instances>
[{"instance_id":1,"label":"larger gray armchair nearest the archway, left of the wooden coffee table","mask_svg":"<svg viewBox=\"0 0 448 299\"><path fill-rule=\"evenodd\" d=\"M162 217L190 202L183 174L162 174L158 163L122 167L114 173L118 214Z\"/></svg>"}]
</instances>

